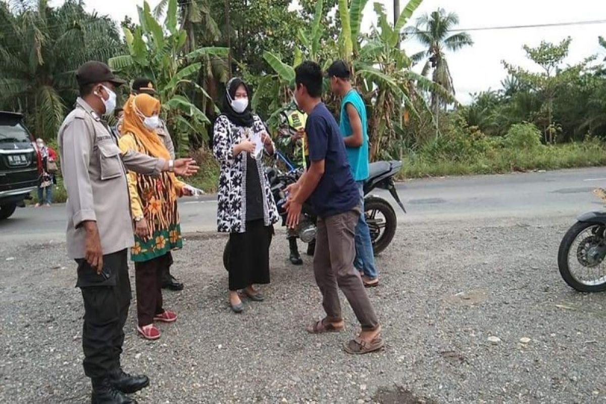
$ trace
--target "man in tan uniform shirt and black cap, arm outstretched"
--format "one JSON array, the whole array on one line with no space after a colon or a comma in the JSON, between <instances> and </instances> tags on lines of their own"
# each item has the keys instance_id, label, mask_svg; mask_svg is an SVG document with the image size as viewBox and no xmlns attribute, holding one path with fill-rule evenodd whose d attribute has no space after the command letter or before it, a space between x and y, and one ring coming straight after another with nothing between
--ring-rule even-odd
<instances>
[{"instance_id":1,"label":"man in tan uniform shirt and black cap, arm outstretched","mask_svg":"<svg viewBox=\"0 0 606 404\"><path fill-rule=\"evenodd\" d=\"M124 373L120 363L131 298L127 249L134 243L126 170L190 175L198 168L191 159L122 154L101 117L112 113L114 89L125 82L95 61L82 65L76 79L80 97L59 128L58 145L67 190L67 253L78 263L76 286L84 300L84 373L92 379L93 404L135 403L124 394L149 379Z\"/></svg>"}]
</instances>

